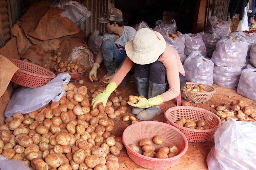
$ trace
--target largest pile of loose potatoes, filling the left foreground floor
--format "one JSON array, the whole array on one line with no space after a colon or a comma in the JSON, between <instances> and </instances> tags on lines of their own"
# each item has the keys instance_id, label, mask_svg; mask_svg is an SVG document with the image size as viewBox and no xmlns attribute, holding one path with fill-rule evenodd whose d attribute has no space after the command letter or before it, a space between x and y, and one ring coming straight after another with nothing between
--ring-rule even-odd
<instances>
[{"instance_id":1,"label":"largest pile of loose potatoes, filling the left foreground floor","mask_svg":"<svg viewBox=\"0 0 256 170\"><path fill-rule=\"evenodd\" d=\"M122 138L103 104L91 108L87 87L63 85L66 93L29 114L15 113L0 126L0 154L34 170L117 170Z\"/></svg>"}]
</instances>

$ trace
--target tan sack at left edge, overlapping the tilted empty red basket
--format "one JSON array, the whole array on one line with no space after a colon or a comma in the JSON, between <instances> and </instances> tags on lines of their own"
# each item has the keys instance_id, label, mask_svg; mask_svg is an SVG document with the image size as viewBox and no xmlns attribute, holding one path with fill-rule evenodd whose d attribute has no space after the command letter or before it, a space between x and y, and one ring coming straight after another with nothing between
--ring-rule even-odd
<instances>
[{"instance_id":1,"label":"tan sack at left edge, overlapping the tilted empty red basket","mask_svg":"<svg viewBox=\"0 0 256 170\"><path fill-rule=\"evenodd\" d=\"M0 97L4 94L13 74L18 69L8 58L0 55Z\"/></svg>"}]
</instances>

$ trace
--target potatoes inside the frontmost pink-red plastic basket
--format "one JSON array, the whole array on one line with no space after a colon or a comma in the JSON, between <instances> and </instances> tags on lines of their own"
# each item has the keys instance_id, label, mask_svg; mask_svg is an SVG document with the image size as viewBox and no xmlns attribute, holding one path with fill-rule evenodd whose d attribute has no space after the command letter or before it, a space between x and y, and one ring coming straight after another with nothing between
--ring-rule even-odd
<instances>
[{"instance_id":1,"label":"potatoes inside the frontmost pink-red plastic basket","mask_svg":"<svg viewBox=\"0 0 256 170\"><path fill-rule=\"evenodd\" d=\"M153 138L153 142L156 145L160 145L163 142L163 138L159 135ZM139 146L142 147L143 153L142 155L151 157L151 158L171 158L179 153L179 149L176 146L170 147L160 147L158 150L155 150L154 145L152 145L152 141L150 139L141 139L139 141ZM137 145L129 145L135 152L139 153L139 147Z\"/></svg>"}]
</instances>

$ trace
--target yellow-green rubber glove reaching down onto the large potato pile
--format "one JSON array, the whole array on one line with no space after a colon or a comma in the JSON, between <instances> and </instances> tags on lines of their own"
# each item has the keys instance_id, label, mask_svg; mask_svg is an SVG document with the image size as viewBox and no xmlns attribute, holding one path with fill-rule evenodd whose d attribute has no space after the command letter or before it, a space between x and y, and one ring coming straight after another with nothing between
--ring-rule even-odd
<instances>
[{"instance_id":1,"label":"yellow-green rubber glove reaching down onto the large potato pile","mask_svg":"<svg viewBox=\"0 0 256 170\"><path fill-rule=\"evenodd\" d=\"M102 103L103 106L106 107L110 94L116 88L117 88L117 84L115 82L110 82L102 93L98 94L95 98L93 98L93 101L92 101L93 109L95 109L98 103Z\"/></svg>"}]
</instances>

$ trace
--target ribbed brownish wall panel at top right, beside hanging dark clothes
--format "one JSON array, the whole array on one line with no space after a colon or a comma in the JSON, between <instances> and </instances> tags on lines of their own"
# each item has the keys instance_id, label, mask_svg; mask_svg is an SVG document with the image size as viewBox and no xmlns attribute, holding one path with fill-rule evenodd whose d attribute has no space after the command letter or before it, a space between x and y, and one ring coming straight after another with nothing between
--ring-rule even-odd
<instances>
[{"instance_id":1,"label":"ribbed brownish wall panel at top right, beside hanging dark clothes","mask_svg":"<svg viewBox=\"0 0 256 170\"><path fill-rule=\"evenodd\" d=\"M230 0L214 0L212 15L217 16L222 21L227 21L229 1Z\"/></svg>"}]
</instances>

